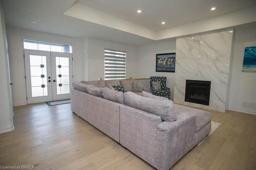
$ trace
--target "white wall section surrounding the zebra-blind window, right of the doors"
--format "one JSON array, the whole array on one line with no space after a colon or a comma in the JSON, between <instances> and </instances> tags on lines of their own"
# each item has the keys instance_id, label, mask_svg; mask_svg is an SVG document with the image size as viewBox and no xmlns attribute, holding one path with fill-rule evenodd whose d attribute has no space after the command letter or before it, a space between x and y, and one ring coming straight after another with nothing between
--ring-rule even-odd
<instances>
[{"instance_id":1,"label":"white wall section surrounding the zebra-blind window, right of the doors","mask_svg":"<svg viewBox=\"0 0 256 170\"><path fill-rule=\"evenodd\" d=\"M137 76L137 47L110 41L85 38L84 47L86 48L86 79L104 79L104 49L120 50L126 52L126 78Z\"/></svg>"}]
</instances>

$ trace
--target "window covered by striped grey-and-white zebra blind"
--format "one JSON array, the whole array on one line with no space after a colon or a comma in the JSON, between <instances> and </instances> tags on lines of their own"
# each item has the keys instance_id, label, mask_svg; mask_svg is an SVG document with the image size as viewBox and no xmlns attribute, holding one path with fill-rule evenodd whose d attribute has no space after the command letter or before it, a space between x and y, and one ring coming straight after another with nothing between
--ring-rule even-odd
<instances>
[{"instance_id":1,"label":"window covered by striped grey-and-white zebra blind","mask_svg":"<svg viewBox=\"0 0 256 170\"><path fill-rule=\"evenodd\" d=\"M104 79L126 79L126 52L108 50L104 51Z\"/></svg>"}]
</instances>

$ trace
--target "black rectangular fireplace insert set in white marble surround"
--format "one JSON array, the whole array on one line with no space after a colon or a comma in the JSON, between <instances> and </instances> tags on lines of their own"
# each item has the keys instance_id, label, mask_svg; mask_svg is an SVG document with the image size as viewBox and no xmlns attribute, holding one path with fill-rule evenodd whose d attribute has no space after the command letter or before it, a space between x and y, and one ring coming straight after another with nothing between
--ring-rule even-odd
<instances>
[{"instance_id":1,"label":"black rectangular fireplace insert set in white marble surround","mask_svg":"<svg viewBox=\"0 0 256 170\"><path fill-rule=\"evenodd\" d=\"M210 81L186 80L185 102L209 106Z\"/></svg>"}]
</instances>

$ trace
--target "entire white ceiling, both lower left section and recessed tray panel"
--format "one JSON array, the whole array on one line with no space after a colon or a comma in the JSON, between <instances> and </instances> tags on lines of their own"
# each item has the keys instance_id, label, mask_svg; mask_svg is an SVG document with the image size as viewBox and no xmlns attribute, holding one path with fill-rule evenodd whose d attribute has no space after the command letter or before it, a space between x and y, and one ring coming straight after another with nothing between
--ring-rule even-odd
<instances>
[{"instance_id":1,"label":"entire white ceiling, both lower left section and recessed tray panel","mask_svg":"<svg viewBox=\"0 0 256 170\"><path fill-rule=\"evenodd\" d=\"M92 37L133 45L155 42L139 35L64 15L75 0L2 0L1 3L6 25L10 27L74 38ZM255 5L256 1L79 0L76 3L156 31L239 10ZM212 6L216 6L217 10L209 11ZM141 9L142 13L138 15L137 9ZM165 20L165 26L161 25L162 20ZM37 23L31 23L31 21Z\"/></svg>"}]
</instances>

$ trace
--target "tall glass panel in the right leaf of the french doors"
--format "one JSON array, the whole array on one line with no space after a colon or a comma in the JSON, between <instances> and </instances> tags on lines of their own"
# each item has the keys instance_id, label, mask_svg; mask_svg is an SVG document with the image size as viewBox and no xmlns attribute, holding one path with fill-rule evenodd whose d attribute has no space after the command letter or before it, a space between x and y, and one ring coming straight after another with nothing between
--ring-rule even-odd
<instances>
[{"instance_id":1,"label":"tall glass panel in the right leaf of the french doors","mask_svg":"<svg viewBox=\"0 0 256 170\"><path fill-rule=\"evenodd\" d=\"M69 58L56 57L56 77L57 94L69 94Z\"/></svg>"}]
</instances>

